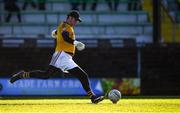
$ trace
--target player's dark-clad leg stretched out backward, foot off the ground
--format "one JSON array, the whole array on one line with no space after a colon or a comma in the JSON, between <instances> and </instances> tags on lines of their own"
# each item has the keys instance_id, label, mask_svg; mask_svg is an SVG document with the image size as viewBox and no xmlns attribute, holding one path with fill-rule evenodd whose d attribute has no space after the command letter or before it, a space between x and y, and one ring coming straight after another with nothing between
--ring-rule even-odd
<instances>
[{"instance_id":1,"label":"player's dark-clad leg stretched out backward, foot off the ground","mask_svg":"<svg viewBox=\"0 0 180 113\"><path fill-rule=\"evenodd\" d=\"M50 78L50 75L53 75L57 71L58 69L51 65L49 65L49 68L46 71L41 71L41 70L34 70L30 72L19 71L10 78L10 82L14 83L17 80L24 78L48 79Z\"/></svg>"}]
</instances>

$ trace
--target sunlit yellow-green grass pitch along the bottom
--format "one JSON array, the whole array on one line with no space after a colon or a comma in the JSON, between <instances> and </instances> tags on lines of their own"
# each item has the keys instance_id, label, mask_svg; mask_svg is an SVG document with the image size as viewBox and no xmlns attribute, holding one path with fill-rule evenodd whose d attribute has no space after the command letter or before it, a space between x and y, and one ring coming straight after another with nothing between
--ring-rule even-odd
<instances>
[{"instance_id":1,"label":"sunlit yellow-green grass pitch along the bottom","mask_svg":"<svg viewBox=\"0 0 180 113\"><path fill-rule=\"evenodd\" d=\"M180 113L180 98L124 98L117 104L105 99L0 99L0 113Z\"/></svg>"}]
</instances>

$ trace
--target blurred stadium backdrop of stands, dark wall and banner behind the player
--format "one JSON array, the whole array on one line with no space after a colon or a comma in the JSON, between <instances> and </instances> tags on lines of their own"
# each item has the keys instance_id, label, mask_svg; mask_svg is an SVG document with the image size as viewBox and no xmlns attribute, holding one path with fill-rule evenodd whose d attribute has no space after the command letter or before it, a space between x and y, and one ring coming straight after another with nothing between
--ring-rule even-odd
<instances>
[{"instance_id":1,"label":"blurred stadium backdrop of stands, dark wall and banner behind the player","mask_svg":"<svg viewBox=\"0 0 180 113\"><path fill-rule=\"evenodd\" d=\"M86 49L74 60L104 94L180 95L180 0L0 0L0 96L85 95L73 76L8 82L24 69L46 69L56 29L79 10L74 29Z\"/></svg>"}]
</instances>

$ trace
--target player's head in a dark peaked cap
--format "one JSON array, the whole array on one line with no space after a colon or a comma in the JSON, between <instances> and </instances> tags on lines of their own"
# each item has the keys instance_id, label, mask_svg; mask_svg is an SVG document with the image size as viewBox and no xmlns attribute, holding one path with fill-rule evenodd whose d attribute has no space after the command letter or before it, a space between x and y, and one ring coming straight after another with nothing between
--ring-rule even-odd
<instances>
[{"instance_id":1,"label":"player's head in a dark peaked cap","mask_svg":"<svg viewBox=\"0 0 180 113\"><path fill-rule=\"evenodd\" d=\"M73 10L67 14L67 22L72 26L75 26L78 21L82 22L78 11Z\"/></svg>"}]
</instances>

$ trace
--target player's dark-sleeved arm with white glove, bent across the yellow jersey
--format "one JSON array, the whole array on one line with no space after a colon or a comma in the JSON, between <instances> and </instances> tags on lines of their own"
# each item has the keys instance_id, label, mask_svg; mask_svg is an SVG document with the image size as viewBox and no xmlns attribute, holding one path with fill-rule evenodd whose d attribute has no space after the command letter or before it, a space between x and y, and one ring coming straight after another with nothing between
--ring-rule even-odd
<instances>
[{"instance_id":1,"label":"player's dark-sleeved arm with white glove, bent across the yellow jersey","mask_svg":"<svg viewBox=\"0 0 180 113\"><path fill-rule=\"evenodd\" d=\"M72 38L69 37L69 32L68 31L63 31L62 32L62 37L63 37L63 40L70 43L70 44L73 44L76 46L76 48L81 51L83 49L85 49L85 45L82 43L82 42L79 42L79 41L76 41L76 40L73 40Z\"/></svg>"}]
</instances>

